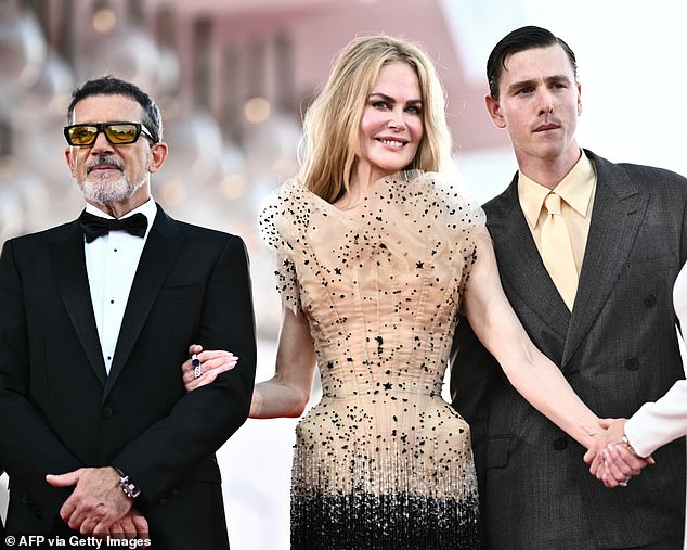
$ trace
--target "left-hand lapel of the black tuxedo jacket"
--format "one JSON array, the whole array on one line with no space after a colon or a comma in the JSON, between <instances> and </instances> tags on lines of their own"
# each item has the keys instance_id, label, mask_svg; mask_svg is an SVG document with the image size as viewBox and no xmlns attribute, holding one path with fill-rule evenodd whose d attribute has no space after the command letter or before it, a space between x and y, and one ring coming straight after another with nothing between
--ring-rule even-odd
<instances>
[{"instance_id":1,"label":"left-hand lapel of the black tuxedo jacket","mask_svg":"<svg viewBox=\"0 0 687 550\"><path fill-rule=\"evenodd\" d=\"M98 336L86 271L83 233L78 222L74 222L74 230L67 239L51 250L51 261L62 302L67 309L93 372L104 385L107 373Z\"/></svg>"}]
</instances>

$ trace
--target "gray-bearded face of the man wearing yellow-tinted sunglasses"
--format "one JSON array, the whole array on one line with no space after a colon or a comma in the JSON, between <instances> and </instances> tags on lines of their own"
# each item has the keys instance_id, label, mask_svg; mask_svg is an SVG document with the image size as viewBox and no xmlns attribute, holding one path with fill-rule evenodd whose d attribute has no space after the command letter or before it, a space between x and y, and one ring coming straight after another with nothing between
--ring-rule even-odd
<instances>
[{"instance_id":1,"label":"gray-bearded face of the man wearing yellow-tinted sunglasses","mask_svg":"<svg viewBox=\"0 0 687 550\"><path fill-rule=\"evenodd\" d=\"M79 101L72 124L140 123L141 105L127 95L89 95ZM137 208L150 196L150 174L157 171L167 155L165 143L141 135L135 143L113 145L103 132L90 146L69 146L65 156L83 197L115 217Z\"/></svg>"}]
</instances>

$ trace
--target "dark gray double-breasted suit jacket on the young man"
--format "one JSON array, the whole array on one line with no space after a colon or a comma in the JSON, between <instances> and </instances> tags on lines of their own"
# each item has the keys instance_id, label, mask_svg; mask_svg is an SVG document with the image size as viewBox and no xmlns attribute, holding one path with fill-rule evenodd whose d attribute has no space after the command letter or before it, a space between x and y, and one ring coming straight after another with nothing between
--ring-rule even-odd
<instances>
[{"instance_id":1,"label":"dark gray double-breasted suit jacket on the young man","mask_svg":"<svg viewBox=\"0 0 687 550\"><path fill-rule=\"evenodd\" d=\"M534 344L599 417L630 417L683 376L672 289L687 258L687 180L586 154L597 187L572 312L544 268L517 175L484 210L504 291ZM452 395L472 432L488 548L682 541L683 440L658 450L657 465L628 487L609 490L589 474L585 449L513 388L465 319L455 343Z\"/></svg>"}]
</instances>

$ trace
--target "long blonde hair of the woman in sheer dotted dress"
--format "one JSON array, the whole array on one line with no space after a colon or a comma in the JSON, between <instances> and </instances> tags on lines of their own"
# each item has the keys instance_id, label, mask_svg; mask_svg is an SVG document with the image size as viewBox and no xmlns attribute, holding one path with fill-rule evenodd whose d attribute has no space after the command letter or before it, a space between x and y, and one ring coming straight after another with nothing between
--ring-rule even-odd
<instances>
[{"instance_id":1,"label":"long blonde hair of the woman in sheer dotted dress","mask_svg":"<svg viewBox=\"0 0 687 550\"><path fill-rule=\"evenodd\" d=\"M417 74L425 128L406 169L440 171L451 161L445 92L433 63L417 44L386 35L355 38L338 55L324 88L308 108L299 150L299 179L330 203L349 189L367 97L386 63L407 63Z\"/></svg>"}]
</instances>

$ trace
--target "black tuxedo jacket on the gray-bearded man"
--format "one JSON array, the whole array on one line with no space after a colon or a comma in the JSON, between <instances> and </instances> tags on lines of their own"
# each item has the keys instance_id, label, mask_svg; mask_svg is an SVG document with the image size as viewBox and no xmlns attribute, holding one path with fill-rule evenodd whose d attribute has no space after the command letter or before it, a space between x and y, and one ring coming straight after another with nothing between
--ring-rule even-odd
<instances>
[{"instance_id":1,"label":"black tuxedo jacket on the gray-bearded man","mask_svg":"<svg viewBox=\"0 0 687 550\"><path fill-rule=\"evenodd\" d=\"M9 533L47 533L70 489L48 473L114 464L158 548L223 548L215 450L246 420L255 379L248 260L234 235L158 206L105 371L78 221L10 240L0 257L0 463ZM186 393L192 343L230 349L235 369Z\"/></svg>"}]
</instances>

